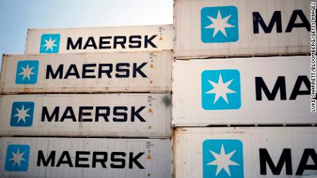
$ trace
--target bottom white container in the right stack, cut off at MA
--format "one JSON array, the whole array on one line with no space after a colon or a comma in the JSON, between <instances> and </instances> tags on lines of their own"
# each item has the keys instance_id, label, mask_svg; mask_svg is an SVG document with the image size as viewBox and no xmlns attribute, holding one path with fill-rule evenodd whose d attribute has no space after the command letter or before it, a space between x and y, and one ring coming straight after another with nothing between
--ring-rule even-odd
<instances>
[{"instance_id":1,"label":"bottom white container in the right stack, cut off at MA","mask_svg":"<svg viewBox=\"0 0 317 178\"><path fill-rule=\"evenodd\" d=\"M317 177L316 127L188 127L174 137L174 175Z\"/></svg>"}]
</instances>

